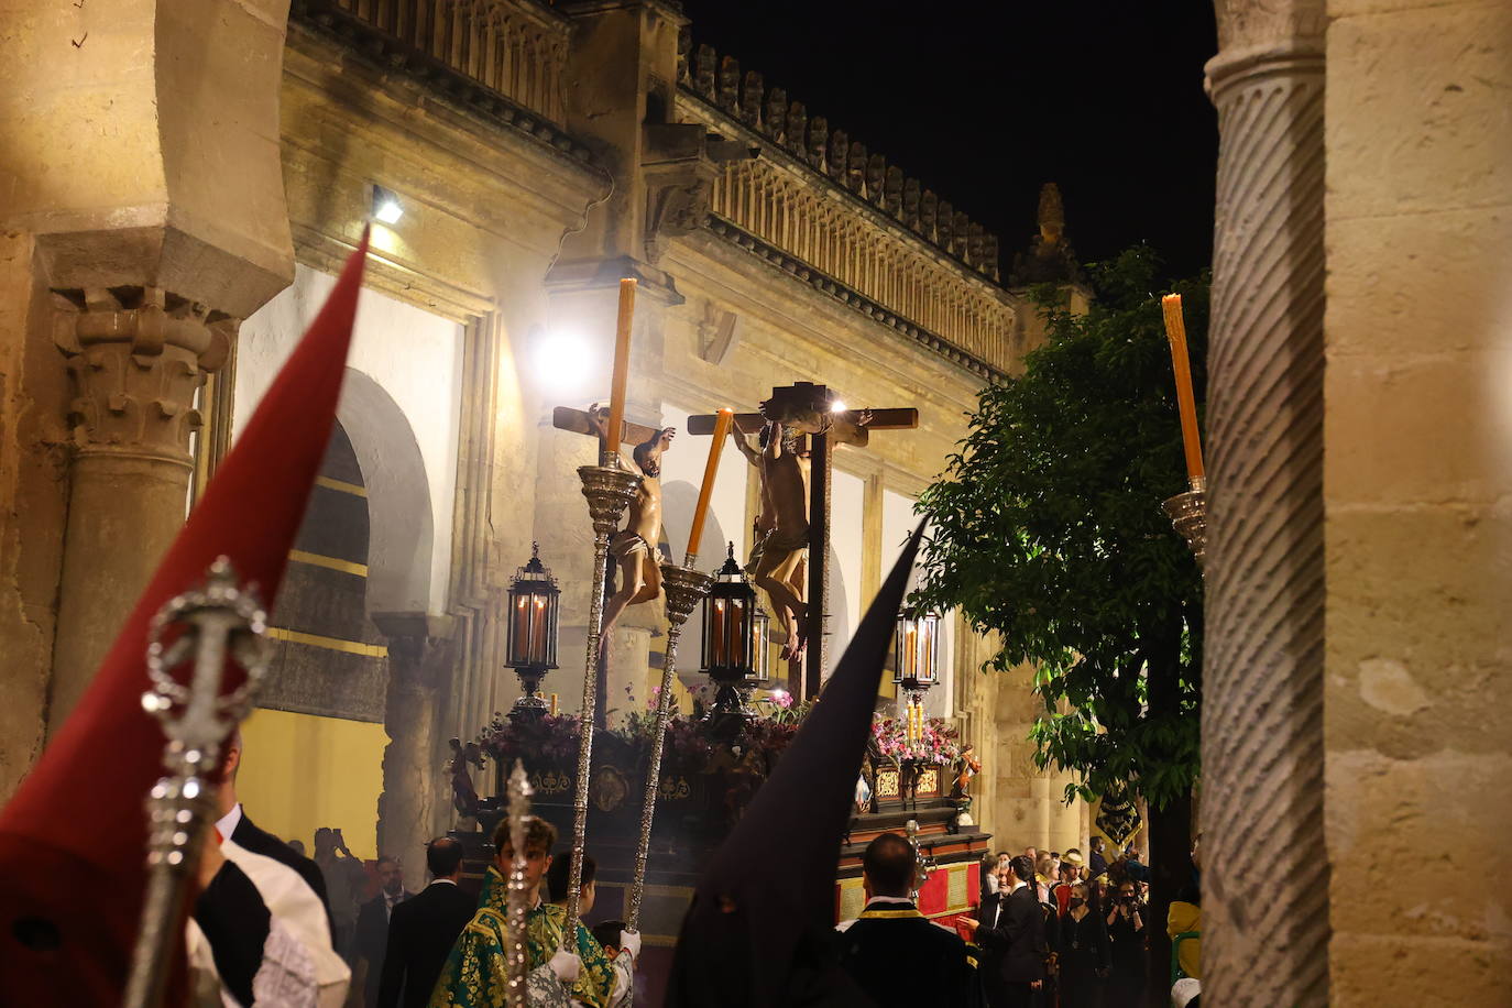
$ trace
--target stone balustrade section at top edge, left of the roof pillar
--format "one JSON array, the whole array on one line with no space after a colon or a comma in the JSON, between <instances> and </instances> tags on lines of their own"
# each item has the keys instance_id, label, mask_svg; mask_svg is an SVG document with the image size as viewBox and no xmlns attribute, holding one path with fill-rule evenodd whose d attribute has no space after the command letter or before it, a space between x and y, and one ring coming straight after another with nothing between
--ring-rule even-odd
<instances>
[{"instance_id":1,"label":"stone balustrade section at top edge, left of the roof pillar","mask_svg":"<svg viewBox=\"0 0 1512 1008\"><path fill-rule=\"evenodd\" d=\"M316 5L311 5L316 6ZM572 24L531 0L325 0L556 124Z\"/></svg>"}]
</instances>

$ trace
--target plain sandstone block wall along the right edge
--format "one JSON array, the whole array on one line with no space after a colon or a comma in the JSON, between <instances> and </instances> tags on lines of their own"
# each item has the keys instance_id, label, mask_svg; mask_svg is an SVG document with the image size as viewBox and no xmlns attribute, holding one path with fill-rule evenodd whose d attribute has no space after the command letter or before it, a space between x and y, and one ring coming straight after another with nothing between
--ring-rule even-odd
<instances>
[{"instance_id":1,"label":"plain sandstone block wall along the right edge","mask_svg":"<svg viewBox=\"0 0 1512 1008\"><path fill-rule=\"evenodd\" d=\"M1329 1002L1501 1003L1512 8L1329 14Z\"/></svg>"}]
</instances>

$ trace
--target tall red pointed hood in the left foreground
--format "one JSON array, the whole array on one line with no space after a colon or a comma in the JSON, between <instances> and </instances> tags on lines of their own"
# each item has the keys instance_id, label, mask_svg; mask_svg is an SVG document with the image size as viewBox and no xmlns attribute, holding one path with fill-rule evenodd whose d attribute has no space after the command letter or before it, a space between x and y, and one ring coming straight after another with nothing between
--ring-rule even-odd
<instances>
[{"instance_id":1,"label":"tall red pointed hood in the left foreground","mask_svg":"<svg viewBox=\"0 0 1512 1008\"><path fill-rule=\"evenodd\" d=\"M147 880L144 802L163 756L141 703L148 624L218 556L272 606L331 437L366 255L364 234L79 707L0 812L0 1005L121 1002ZM224 689L240 676L228 668Z\"/></svg>"}]
</instances>

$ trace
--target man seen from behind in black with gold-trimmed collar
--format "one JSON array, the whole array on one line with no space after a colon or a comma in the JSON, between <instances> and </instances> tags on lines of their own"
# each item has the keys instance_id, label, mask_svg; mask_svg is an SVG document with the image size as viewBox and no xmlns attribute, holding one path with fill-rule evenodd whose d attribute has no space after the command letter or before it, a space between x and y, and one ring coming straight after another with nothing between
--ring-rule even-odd
<instances>
[{"instance_id":1,"label":"man seen from behind in black with gold-trimmed collar","mask_svg":"<svg viewBox=\"0 0 1512 1008\"><path fill-rule=\"evenodd\" d=\"M836 928L841 966L880 1008L963 1006L975 979L966 945L909 899L916 869L913 846L897 833L866 846L866 908Z\"/></svg>"}]
</instances>

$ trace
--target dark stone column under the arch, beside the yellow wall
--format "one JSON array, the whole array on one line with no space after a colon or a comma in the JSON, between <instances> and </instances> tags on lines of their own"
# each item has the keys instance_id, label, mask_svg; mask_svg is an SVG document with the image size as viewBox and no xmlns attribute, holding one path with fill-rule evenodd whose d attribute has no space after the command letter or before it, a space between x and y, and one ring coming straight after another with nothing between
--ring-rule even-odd
<instances>
[{"instance_id":1,"label":"dark stone column under the arch, beside the yellow wall","mask_svg":"<svg viewBox=\"0 0 1512 1008\"><path fill-rule=\"evenodd\" d=\"M375 612L389 638L389 698L383 753L383 795L378 796L378 852L399 858L404 881L425 884L425 843L437 810L451 801L443 771L446 739L438 737L445 688L451 683L451 617L423 612ZM473 784L479 783L473 774Z\"/></svg>"}]
</instances>

